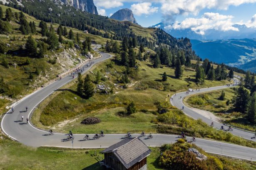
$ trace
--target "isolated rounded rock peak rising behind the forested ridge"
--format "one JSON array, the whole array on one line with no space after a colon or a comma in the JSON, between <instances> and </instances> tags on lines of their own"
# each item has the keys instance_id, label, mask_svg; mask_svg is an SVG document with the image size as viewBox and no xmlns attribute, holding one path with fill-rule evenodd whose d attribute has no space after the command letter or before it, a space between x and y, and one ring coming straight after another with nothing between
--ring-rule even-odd
<instances>
[{"instance_id":1,"label":"isolated rounded rock peak rising behind the forested ridge","mask_svg":"<svg viewBox=\"0 0 256 170\"><path fill-rule=\"evenodd\" d=\"M115 12L110 18L116 19L119 21L129 21L134 24L138 24L136 19L133 16L132 10L128 8L124 8L122 10Z\"/></svg>"}]
</instances>

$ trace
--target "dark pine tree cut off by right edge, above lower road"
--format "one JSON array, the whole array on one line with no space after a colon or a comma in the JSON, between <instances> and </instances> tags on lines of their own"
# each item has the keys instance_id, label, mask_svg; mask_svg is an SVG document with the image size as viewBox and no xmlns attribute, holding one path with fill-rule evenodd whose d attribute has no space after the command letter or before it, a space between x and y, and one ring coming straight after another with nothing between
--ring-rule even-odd
<instances>
[{"instance_id":1,"label":"dark pine tree cut off by right edge, above lower road","mask_svg":"<svg viewBox=\"0 0 256 170\"><path fill-rule=\"evenodd\" d=\"M247 111L246 111L246 119L251 123L256 123L256 93L254 92L251 100L249 101Z\"/></svg>"}]
</instances>

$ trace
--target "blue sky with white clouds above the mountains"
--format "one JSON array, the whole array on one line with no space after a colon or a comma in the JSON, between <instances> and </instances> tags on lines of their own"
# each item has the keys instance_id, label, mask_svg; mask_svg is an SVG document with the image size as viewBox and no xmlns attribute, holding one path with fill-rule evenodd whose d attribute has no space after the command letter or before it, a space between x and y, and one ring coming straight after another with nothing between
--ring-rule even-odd
<instances>
[{"instance_id":1,"label":"blue sky with white clouds above the mountains","mask_svg":"<svg viewBox=\"0 0 256 170\"><path fill-rule=\"evenodd\" d=\"M137 22L149 27L164 21L167 29L204 34L207 29L234 30L233 24L256 28L256 0L94 0L101 15L129 8Z\"/></svg>"}]
</instances>

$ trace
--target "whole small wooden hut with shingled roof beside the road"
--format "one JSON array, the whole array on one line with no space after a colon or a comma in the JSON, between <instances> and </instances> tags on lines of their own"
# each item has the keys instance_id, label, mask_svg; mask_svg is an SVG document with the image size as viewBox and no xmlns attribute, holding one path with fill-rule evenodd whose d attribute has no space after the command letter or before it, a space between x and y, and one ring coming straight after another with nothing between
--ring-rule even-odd
<instances>
[{"instance_id":1,"label":"whole small wooden hut with shingled roof beside the road","mask_svg":"<svg viewBox=\"0 0 256 170\"><path fill-rule=\"evenodd\" d=\"M151 150L139 139L124 139L105 149L104 165L113 170L147 170Z\"/></svg>"}]
</instances>

